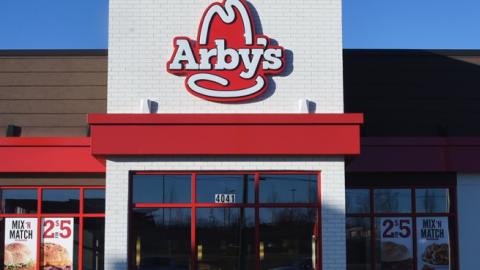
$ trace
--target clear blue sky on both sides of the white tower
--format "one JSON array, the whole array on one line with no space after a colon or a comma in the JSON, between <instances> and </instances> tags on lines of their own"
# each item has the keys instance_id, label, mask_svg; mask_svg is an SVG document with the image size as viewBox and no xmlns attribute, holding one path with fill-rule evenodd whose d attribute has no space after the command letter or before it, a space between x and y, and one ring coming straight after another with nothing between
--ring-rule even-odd
<instances>
[{"instance_id":1,"label":"clear blue sky on both sides of the white tower","mask_svg":"<svg viewBox=\"0 0 480 270\"><path fill-rule=\"evenodd\" d=\"M343 0L344 47L480 49L479 14L480 0ZM0 0L0 49L107 46L108 0Z\"/></svg>"}]
</instances>

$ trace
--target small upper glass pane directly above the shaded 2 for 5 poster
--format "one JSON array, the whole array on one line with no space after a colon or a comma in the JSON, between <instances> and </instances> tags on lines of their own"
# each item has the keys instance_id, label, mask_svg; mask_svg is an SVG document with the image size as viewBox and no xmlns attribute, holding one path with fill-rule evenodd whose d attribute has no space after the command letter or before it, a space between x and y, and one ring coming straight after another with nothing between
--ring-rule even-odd
<instances>
[{"instance_id":1,"label":"small upper glass pane directly above the shaded 2 for 5 poster","mask_svg":"<svg viewBox=\"0 0 480 270\"><path fill-rule=\"evenodd\" d=\"M374 191L375 212L409 213L412 211L410 189L376 189Z\"/></svg>"}]
</instances>

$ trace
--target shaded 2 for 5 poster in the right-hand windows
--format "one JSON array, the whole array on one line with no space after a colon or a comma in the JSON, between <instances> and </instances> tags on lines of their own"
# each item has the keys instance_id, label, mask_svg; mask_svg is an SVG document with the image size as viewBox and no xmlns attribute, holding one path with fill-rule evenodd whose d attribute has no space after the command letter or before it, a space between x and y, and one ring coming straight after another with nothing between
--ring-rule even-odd
<instances>
[{"instance_id":1,"label":"shaded 2 for 5 poster in the right-hand windows","mask_svg":"<svg viewBox=\"0 0 480 270\"><path fill-rule=\"evenodd\" d=\"M382 270L413 268L412 220L406 217L380 219Z\"/></svg>"}]
</instances>

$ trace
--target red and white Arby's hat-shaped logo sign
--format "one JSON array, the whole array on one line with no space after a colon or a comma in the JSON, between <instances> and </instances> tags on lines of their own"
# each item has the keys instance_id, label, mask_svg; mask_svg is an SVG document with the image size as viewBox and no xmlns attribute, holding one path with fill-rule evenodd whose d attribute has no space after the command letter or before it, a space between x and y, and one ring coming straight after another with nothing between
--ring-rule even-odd
<instances>
[{"instance_id":1,"label":"red and white Arby's hat-shaped logo sign","mask_svg":"<svg viewBox=\"0 0 480 270\"><path fill-rule=\"evenodd\" d=\"M176 37L169 73L186 76L195 96L218 102L256 98L268 87L267 75L285 67L285 51L257 35L245 0L211 4L203 14L197 40Z\"/></svg>"}]
</instances>

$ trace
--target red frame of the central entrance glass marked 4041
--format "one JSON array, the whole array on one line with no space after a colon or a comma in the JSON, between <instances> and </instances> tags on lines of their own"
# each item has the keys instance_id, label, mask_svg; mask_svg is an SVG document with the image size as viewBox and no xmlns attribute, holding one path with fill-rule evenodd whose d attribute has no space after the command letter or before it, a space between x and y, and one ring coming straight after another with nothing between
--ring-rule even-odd
<instances>
[{"instance_id":1,"label":"red frame of the central entrance glass marked 4041","mask_svg":"<svg viewBox=\"0 0 480 270\"><path fill-rule=\"evenodd\" d=\"M233 204L216 204L216 203L198 203L196 176L197 175L245 175L250 174L255 176L255 190L254 203L233 203ZM317 203L261 203L260 202L260 175L261 174L308 174L317 176ZM133 203L132 202L132 182L134 175L191 175L191 202L190 203ZM129 244L128 244L128 269L132 269L132 262L134 261L135 251L133 249L132 224L133 215L131 209L133 208L189 208L191 209L190 221L190 240L191 240L191 269L196 269L197 263L197 238L196 238L196 209L197 208L253 208L255 211L255 270L260 270L260 208L315 208L317 209L317 220L315 230L315 237L317 239L315 249L315 269L322 270L322 178L321 171L134 171L130 173L130 196L129 196Z\"/></svg>"}]
</instances>

